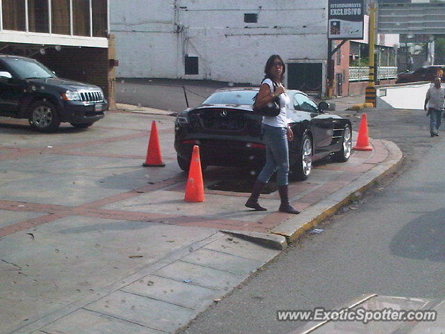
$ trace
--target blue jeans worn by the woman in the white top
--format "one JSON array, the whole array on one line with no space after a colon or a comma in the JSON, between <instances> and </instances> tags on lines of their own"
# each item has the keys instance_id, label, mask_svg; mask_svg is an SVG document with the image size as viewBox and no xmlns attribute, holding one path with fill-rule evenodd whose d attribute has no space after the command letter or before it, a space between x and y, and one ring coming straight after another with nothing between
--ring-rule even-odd
<instances>
[{"instance_id":1,"label":"blue jeans worn by the woman in the white top","mask_svg":"<svg viewBox=\"0 0 445 334\"><path fill-rule=\"evenodd\" d=\"M277 184L288 184L289 177L289 146L285 127L270 127L261 125L264 143L266 144L266 164L264 164L258 180L267 183L277 171Z\"/></svg>"}]
</instances>

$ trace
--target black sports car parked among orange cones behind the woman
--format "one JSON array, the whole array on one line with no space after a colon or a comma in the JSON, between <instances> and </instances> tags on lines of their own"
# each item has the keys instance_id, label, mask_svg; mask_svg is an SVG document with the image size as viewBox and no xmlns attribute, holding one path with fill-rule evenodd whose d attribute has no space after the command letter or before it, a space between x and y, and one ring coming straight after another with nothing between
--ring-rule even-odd
<instances>
[{"instance_id":1,"label":"black sports car parked among orange cones behind the woman","mask_svg":"<svg viewBox=\"0 0 445 334\"><path fill-rule=\"evenodd\" d=\"M261 116L252 112L259 88L216 90L196 108L179 113L175 122L175 150L182 170L188 170L193 145L200 146L202 167L256 167L264 164ZM329 105L317 104L299 90L286 90L290 97L287 117L293 120L294 139L289 142L290 177L306 180L312 161L332 154L347 161L352 146L350 120L325 113Z\"/></svg>"}]
</instances>

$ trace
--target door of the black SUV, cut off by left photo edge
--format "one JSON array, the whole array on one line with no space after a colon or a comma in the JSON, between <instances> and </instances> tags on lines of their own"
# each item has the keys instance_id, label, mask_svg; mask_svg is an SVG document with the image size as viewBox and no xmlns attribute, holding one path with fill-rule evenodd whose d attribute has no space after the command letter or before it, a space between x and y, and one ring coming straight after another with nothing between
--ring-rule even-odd
<instances>
[{"instance_id":1,"label":"door of the black SUV, cut off by left photo edge","mask_svg":"<svg viewBox=\"0 0 445 334\"><path fill-rule=\"evenodd\" d=\"M10 74L10 75L8 75ZM19 112L19 102L24 96L24 81L16 79L10 70L0 63L0 113L14 116Z\"/></svg>"}]
</instances>

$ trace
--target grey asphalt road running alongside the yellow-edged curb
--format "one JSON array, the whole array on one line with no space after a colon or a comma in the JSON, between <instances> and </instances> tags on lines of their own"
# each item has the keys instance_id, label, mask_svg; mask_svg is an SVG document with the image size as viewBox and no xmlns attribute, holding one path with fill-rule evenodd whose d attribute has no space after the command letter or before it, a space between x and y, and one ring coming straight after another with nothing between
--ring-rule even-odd
<instances>
[{"instance_id":1,"label":"grey asphalt road running alongside the yellow-edged curb","mask_svg":"<svg viewBox=\"0 0 445 334\"><path fill-rule=\"evenodd\" d=\"M361 113L336 113L358 128ZM366 113L370 136L403 150L398 177L343 208L322 234L293 244L183 333L286 333L301 324L276 321L277 310L335 308L366 292L445 294L443 140L430 138L423 111Z\"/></svg>"}]
</instances>

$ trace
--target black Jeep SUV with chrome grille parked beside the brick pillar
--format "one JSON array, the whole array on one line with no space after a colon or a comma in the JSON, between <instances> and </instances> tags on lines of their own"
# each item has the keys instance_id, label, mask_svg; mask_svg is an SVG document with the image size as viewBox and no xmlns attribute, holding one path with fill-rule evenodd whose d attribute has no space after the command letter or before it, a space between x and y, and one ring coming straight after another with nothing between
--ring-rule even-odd
<instances>
[{"instance_id":1,"label":"black Jeep SUV with chrome grille parked beside the brick pillar","mask_svg":"<svg viewBox=\"0 0 445 334\"><path fill-rule=\"evenodd\" d=\"M101 88L58 78L31 58L0 55L0 116L28 118L34 129L55 132L60 122L90 127L106 109Z\"/></svg>"}]
</instances>

